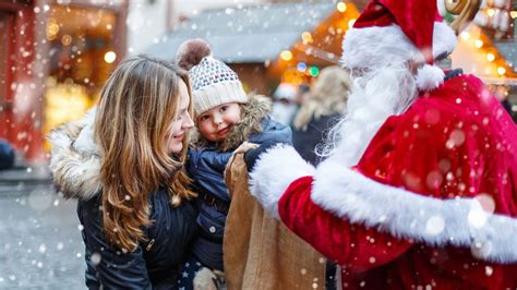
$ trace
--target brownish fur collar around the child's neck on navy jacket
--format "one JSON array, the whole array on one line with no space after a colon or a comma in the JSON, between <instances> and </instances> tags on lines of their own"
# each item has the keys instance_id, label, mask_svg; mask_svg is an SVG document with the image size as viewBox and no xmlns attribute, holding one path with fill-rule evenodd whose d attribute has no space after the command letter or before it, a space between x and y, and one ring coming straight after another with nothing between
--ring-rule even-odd
<instances>
[{"instance_id":1,"label":"brownish fur collar around the child's neck on navy jacket","mask_svg":"<svg viewBox=\"0 0 517 290\"><path fill-rule=\"evenodd\" d=\"M269 114L272 101L264 96L250 96L247 104L242 106L241 122L235 125L227 137L219 143L212 143L194 130L191 144L196 148L205 148L215 145L220 152L228 152L237 148L251 135L262 132L262 121Z\"/></svg>"}]
</instances>

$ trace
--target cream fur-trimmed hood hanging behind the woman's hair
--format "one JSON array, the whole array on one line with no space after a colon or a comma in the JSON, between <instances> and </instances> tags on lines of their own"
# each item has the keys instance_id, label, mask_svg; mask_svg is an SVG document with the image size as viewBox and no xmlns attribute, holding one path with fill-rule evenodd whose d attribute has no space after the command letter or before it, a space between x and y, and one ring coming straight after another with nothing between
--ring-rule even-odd
<instances>
[{"instance_id":1,"label":"cream fur-trimmed hood hanging behind the woman's hair","mask_svg":"<svg viewBox=\"0 0 517 290\"><path fill-rule=\"evenodd\" d=\"M100 192L100 153L94 142L95 109L76 122L53 130L50 171L53 185L67 198L89 200Z\"/></svg>"}]
</instances>

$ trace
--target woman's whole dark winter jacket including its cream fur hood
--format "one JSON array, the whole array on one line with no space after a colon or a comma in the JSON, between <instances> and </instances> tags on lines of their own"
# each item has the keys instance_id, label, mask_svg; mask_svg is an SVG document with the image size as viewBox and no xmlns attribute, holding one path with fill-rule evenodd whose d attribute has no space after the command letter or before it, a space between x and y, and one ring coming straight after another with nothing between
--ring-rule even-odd
<instances>
[{"instance_id":1,"label":"woman's whole dark winter jacket including its cream fur hood","mask_svg":"<svg viewBox=\"0 0 517 290\"><path fill-rule=\"evenodd\" d=\"M65 197L79 198L77 216L86 247L86 285L98 289L172 289L182 258L197 230L194 202L172 207L166 190L148 195L152 226L147 241L122 253L105 237L99 181L100 158L92 140L93 113L51 133L50 169L56 188Z\"/></svg>"}]
</instances>

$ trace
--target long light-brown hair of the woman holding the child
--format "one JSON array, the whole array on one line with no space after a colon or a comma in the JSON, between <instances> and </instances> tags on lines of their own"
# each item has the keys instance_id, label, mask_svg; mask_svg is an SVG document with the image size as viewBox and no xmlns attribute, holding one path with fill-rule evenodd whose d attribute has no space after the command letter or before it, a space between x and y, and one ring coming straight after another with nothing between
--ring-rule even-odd
<instances>
[{"instance_id":1,"label":"long light-brown hair of the woman holding the child","mask_svg":"<svg viewBox=\"0 0 517 290\"><path fill-rule=\"evenodd\" d=\"M103 221L108 240L123 252L146 240L148 194L163 186L173 206L195 196L182 169L188 138L170 156L164 142L179 110L179 82L189 88L185 71L139 56L120 63L103 88L95 119L95 140L103 161ZM192 113L192 98L189 105Z\"/></svg>"}]
</instances>

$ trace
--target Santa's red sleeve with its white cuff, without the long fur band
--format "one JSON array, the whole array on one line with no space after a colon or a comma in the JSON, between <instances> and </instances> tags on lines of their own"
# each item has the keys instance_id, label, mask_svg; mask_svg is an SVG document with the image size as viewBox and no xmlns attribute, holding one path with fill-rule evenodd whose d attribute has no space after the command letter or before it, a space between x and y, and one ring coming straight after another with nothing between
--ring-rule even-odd
<instances>
[{"instance_id":1,"label":"Santa's red sleeve with its white cuff, without the long fur band","mask_svg":"<svg viewBox=\"0 0 517 290\"><path fill-rule=\"evenodd\" d=\"M314 204L311 190L315 173L292 147L277 146L261 155L254 166L251 192L266 212L349 270L376 267L411 246L407 241L351 225Z\"/></svg>"}]
</instances>

